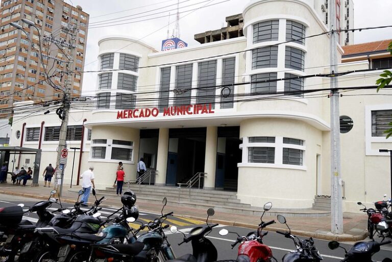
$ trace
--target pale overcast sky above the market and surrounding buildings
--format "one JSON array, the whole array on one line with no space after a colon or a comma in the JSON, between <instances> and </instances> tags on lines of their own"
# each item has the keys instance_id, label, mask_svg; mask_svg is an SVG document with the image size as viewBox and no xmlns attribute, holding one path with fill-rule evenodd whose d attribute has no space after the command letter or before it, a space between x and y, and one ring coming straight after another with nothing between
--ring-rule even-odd
<instances>
[{"instance_id":1,"label":"pale overcast sky above the market and surrounding buildings","mask_svg":"<svg viewBox=\"0 0 392 262\"><path fill-rule=\"evenodd\" d=\"M141 39L160 50L161 41L166 39L167 24L170 20L170 35L175 27L177 0L65 0L71 5L80 5L83 11L90 14L90 28L88 31L87 54L85 70L95 70L98 66L98 40L110 35L129 35ZM225 18L229 15L241 13L249 0L180 0L180 38L190 46L198 45L193 35L208 30L216 30L225 26ZM183 12L199 8L198 10ZM125 11L128 10L128 11ZM152 12L146 12L151 11ZM171 10L171 11L169 11ZM354 0L354 27L376 27L392 25L390 18L392 10L391 0ZM122 11L122 12L121 12ZM170 12L170 19L168 13ZM181 13L182 12L182 13ZM154 13L155 15L146 16ZM157 14L159 13L159 14ZM109 14L109 15L108 15ZM125 17L122 23L113 25L113 18ZM161 18L145 20L152 17ZM122 20L121 19L121 20ZM139 21L138 20L144 20ZM133 23L128 23L133 21ZM95 27L93 28L95 23ZM99 23L106 23L99 25ZM365 30L354 33L354 43L371 42L392 38L392 29ZM96 76L86 73L83 81L85 93L95 89ZM82 93L82 94L83 94Z\"/></svg>"}]
</instances>

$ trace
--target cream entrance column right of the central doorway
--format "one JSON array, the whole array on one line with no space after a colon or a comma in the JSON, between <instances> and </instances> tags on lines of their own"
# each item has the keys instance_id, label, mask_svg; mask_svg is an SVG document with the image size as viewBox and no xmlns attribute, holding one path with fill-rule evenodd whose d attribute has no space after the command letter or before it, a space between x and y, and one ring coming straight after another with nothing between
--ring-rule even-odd
<instances>
[{"instance_id":1,"label":"cream entrance column right of the central doorway","mask_svg":"<svg viewBox=\"0 0 392 262\"><path fill-rule=\"evenodd\" d=\"M204 161L204 172L207 173L207 178L204 179L204 189L215 188L217 138L218 138L218 128L207 127L206 156Z\"/></svg>"}]
</instances>

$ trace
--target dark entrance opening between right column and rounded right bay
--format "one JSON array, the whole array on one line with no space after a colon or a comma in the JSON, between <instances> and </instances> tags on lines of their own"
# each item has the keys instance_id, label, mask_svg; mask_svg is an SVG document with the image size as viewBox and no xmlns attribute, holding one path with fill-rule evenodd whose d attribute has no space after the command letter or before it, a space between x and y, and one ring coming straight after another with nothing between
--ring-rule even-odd
<instances>
[{"instance_id":1,"label":"dark entrance opening between right column and rounded right bay","mask_svg":"<svg viewBox=\"0 0 392 262\"><path fill-rule=\"evenodd\" d=\"M238 167L242 161L239 127L218 127L215 187L237 190Z\"/></svg>"}]
</instances>

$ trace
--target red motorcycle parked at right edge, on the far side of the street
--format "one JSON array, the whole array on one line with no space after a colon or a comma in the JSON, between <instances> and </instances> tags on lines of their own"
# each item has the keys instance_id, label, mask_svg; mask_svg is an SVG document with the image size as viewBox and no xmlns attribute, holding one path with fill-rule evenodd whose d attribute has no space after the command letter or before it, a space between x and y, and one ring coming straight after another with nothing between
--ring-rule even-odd
<instances>
[{"instance_id":1,"label":"red motorcycle parked at right edge, on the far side of the street","mask_svg":"<svg viewBox=\"0 0 392 262\"><path fill-rule=\"evenodd\" d=\"M378 201L385 202L385 201ZM392 239L392 212L388 212L386 209L386 203L375 203L376 209L367 209L361 202L357 202L358 205L362 205L363 208L359 209L367 214L367 232L369 238L374 239L374 235L377 233L379 236L389 237Z\"/></svg>"}]
</instances>

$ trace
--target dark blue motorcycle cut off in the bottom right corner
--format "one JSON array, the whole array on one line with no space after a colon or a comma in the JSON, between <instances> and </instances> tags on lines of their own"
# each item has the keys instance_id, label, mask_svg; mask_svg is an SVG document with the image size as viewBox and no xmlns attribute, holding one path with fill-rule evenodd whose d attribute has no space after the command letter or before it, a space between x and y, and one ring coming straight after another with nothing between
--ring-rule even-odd
<instances>
[{"instance_id":1,"label":"dark blue motorcycle cut off in the bottom right corner","mask_svg":"<svg viewBox=\"0 0 392 262\"><path fill-rule=\"evenodd\" d=\"M380 251L380 246L391 243L392 241L385 241L378 243L376 241L369 242L357 242L347 251L344 247L341 247L339 242L331 241L328 243L328 248L331 250L337 249L338 247L345 250L345 258L340 262L374 262L372 256ZM390 258L384 258L382 262L392 262Z\"/></svg>"}]
</instances>

